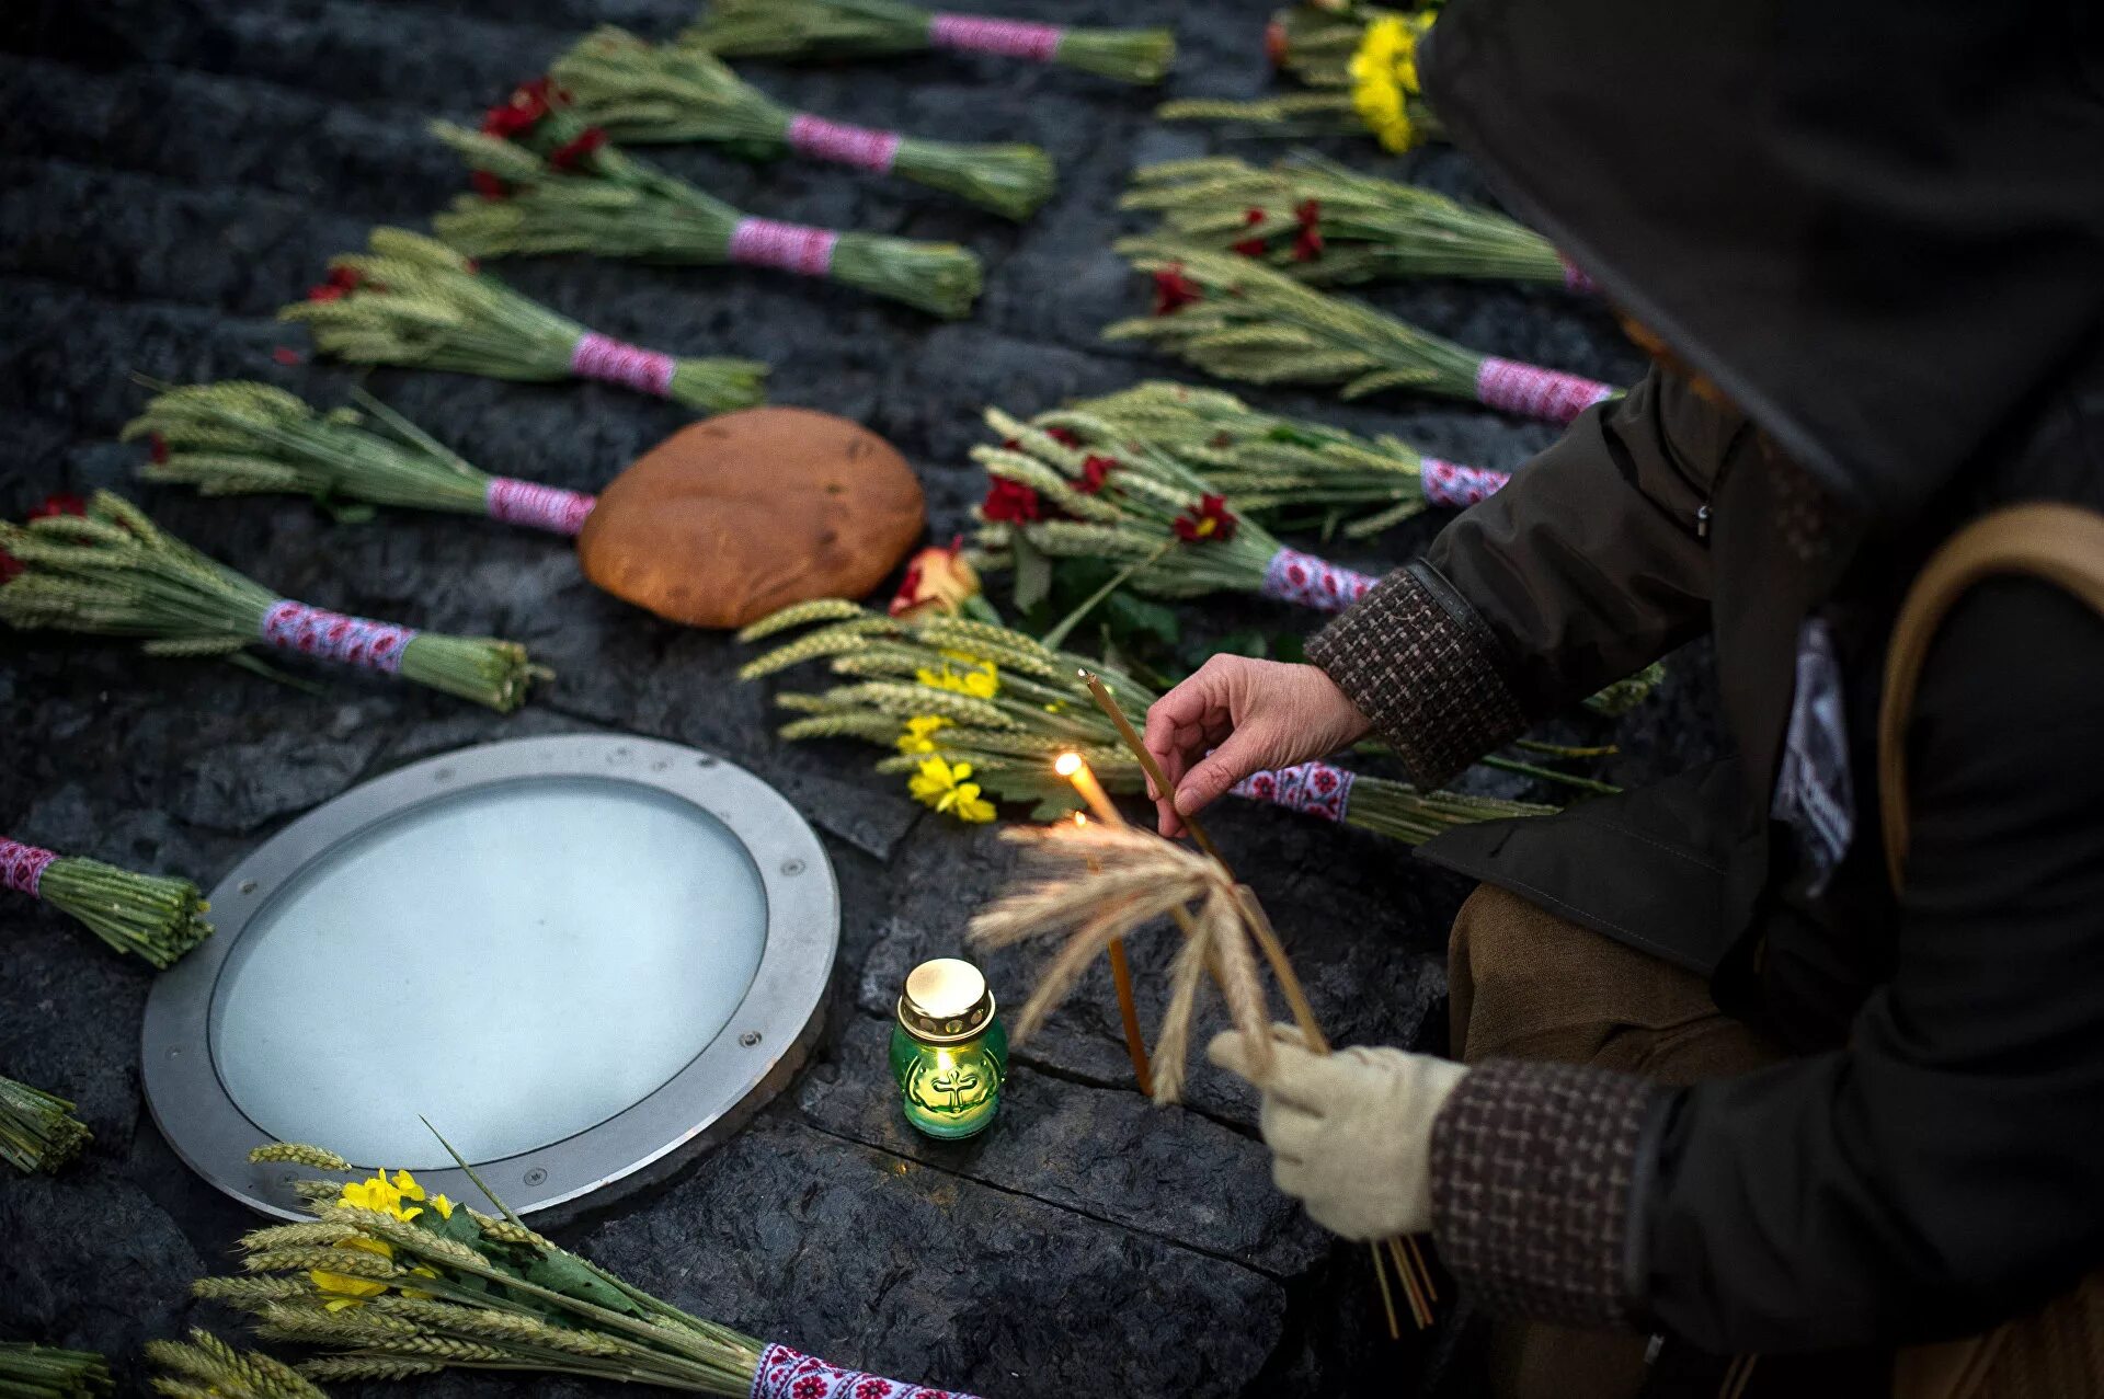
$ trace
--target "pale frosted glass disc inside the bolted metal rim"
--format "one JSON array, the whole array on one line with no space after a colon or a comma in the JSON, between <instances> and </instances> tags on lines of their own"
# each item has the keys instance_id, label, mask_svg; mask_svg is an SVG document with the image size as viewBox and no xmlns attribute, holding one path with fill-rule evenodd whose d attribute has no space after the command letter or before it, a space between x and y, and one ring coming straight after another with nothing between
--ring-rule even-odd
<instances>
[{"instance_id":1,"label":"pale frosted glass disc inside the bolted metal rim","mask_svg":"<svg viewBox=\"0 0 2104 1399\"><path fill-rule=\"evenodd\" d=\"M766 890L705 810L528 778L343 842L250 919L213 999L234 1102L360 1165L448 1165L593 1128L745 999Z\"/></svg>"}]
</instances>

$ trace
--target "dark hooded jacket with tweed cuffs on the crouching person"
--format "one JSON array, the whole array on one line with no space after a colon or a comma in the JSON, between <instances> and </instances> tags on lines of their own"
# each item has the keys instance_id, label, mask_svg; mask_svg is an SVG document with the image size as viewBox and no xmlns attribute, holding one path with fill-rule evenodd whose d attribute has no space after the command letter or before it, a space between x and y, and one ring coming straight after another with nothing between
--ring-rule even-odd
<instances>
[{"instance_id":1,"label":"dark hooded jacket with tweed cuffs on the crouching person","mask_svg":"<svg viewBox=\"0 0 2104 1399\"><path fill-rule=\"evenodd\" d=\"M1424 854L1715 978L1799 1056L1664 1090L1492 1065L1435 1130L1494 1306L1717 1353L1982 1330L2104 1264L2104 621L1950 616L1883 884L1891 614L1953 528L2104 507L2104 72L2085 6L1456 0L1427 84L1509 200L1748 412L1591 410L1309 648L1424 780L1715 637L1734 757ZM1856 829L1772 820L1801 629Z\"/></svg>"}]
</instances>

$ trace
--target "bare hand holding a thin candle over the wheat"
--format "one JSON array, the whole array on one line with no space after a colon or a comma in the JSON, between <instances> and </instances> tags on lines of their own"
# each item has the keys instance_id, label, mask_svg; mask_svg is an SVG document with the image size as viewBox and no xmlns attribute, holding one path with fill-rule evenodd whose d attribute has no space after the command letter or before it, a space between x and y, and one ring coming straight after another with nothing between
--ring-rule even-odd
<instances>
[{"instance_id":1,"label":"bare hand holding a thin candle over the wheat","mask_svg":"<svg viewBox=\"0 0 2104 1399\"><path fill-rule=\"evenodd\" d=\"M1334 753L1368 728L1313 665L1214 656L1147 711L1147 751L1172 787L1147 783L1161 833L1182 835L1182 812L1206 810L1252 772Z\"/></svg>"}]
</instances>

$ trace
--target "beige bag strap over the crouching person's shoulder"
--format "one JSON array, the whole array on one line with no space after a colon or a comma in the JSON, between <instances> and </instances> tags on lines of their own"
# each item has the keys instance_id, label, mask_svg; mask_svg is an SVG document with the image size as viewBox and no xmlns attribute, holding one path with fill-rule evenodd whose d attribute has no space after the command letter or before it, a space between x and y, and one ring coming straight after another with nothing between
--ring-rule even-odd
<instances>
[{"instance_id":1,"label":"beige bag strap over the crouching person's shoulder","mask_svg":"<svg viewBox=\"0 0 2104 1399\"><path fill-rule=\"evenodd\" d=\"M1877 713L1877 799L1885 818L1885 873L1894 892L1906 873L1906 722L1929 644L1950 606L1997 574L2043 579L2104 614L2104 515L2075 505L2011 505L1982 515L1929 557L1906 591L1885 654Z\"/></svg>"}]
</instances>

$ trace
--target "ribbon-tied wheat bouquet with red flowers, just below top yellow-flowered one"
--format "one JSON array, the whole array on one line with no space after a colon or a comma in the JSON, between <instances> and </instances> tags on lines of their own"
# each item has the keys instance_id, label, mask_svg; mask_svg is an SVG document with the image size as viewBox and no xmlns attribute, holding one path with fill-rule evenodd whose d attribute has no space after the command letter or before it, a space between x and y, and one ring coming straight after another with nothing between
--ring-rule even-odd
<instances>
[{"instance_id":1,"label":"ribbon-tied wheat bouquet with red flowers, just below top yellow-flowered one","mask_svg":"<svg viewBox=\"0 0 2104 1399\"><path fill-rule=\"evenodd\" d=\"M1119 208L1161 215L1161 236L1260 259L1317 286L1477 278L1591 290L1534 229L1418 185L1298 154L1269 170L1212 156L1140 166Z\"/></svg>"}]
</instances>

